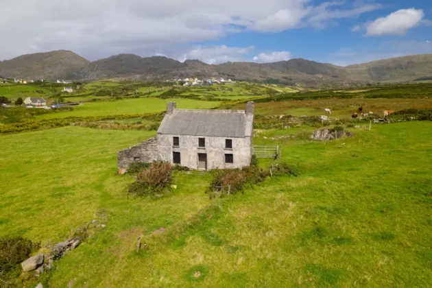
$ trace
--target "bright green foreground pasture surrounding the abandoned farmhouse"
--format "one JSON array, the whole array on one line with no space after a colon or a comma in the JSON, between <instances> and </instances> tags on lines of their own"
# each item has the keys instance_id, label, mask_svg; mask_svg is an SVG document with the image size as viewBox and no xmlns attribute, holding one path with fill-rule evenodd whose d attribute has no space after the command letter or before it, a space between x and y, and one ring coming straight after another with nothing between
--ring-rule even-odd
<instances>
[{"instance_id":1,"label":"bright green foreground pasture surrounding the abandoned farmhouse","mask_svg":"<svg viewBox=\"0 0 432 288\"><path fill-rule=\"evenodd\" d=\"M300 176L216 200L206 173L176 174L178 189L157 200L126 197L132 177L117 175L116 153L154 132L0 136L0 235L50 245L110 215L56 263L49 287L429 287L432 123L353 131L331 142L254 139L280 145ZM263 135L284 132L301 128ZM137 253L139 235L149 249Z\"/></svg>"}]
</instances>

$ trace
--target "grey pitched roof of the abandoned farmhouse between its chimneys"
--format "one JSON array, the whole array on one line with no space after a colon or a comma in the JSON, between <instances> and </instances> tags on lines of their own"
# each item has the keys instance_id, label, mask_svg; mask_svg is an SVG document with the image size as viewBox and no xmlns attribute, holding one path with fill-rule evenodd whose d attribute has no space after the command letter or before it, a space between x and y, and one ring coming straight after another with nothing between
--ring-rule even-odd
<instances>
[{"instance_id":1,"label":"grey pitched roof of the abandoned farmhouse between its chimneys","mask_svg":"<svg viewBox=\"0 0 432 288\"><path fill-rule=\"evenodd\" d=\"M252 121L253 115L244 110L174 109L165 115L158 134L243 138L252 133Z\"/></svg>"}]
</instances>

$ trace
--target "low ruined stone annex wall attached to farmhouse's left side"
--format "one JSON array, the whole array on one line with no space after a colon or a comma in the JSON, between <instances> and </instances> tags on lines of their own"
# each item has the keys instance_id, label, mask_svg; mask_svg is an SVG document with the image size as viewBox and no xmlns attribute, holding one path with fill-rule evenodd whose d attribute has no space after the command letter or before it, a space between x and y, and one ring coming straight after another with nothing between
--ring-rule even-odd
<instances>
[{"instance_id":1,"label":"low ruined stone annex wall attached to farmhouse's left side","mask_svg":"<svg viewBox=\"0 0 432 288\"><path fill-rule=\"evenodd\" d=\"M156 137L117 153L119 170L128 169L129 165L134 162L153 162L156 160L159 160L158 141Z\"/></svg>"}]
</instances>

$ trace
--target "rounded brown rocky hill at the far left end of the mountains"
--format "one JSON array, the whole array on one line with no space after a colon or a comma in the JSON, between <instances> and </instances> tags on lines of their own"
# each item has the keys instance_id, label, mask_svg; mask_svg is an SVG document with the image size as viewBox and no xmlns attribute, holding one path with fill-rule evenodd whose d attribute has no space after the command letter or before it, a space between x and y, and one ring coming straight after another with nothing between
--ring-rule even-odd
<instances>
[{"instance_id":1,"label":"rounded brown rocky hill at the far left end of the mountains","mask_svg":"<svg viewBox=\"0 0 432 288\"><path fill-rule=\"evenodd\" d=\"M56 79L86 67L90 61L72 51L27 54L0 61L0 75L8 78Z\"/></svg>"}]
</instances>

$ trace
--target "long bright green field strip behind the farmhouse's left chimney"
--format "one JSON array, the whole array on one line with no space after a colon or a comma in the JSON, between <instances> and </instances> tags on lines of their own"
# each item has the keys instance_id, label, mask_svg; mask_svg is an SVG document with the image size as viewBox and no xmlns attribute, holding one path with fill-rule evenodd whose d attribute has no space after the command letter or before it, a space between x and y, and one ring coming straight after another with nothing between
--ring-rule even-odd
<instances>
[{"instance_id":1,"label":"long bright green field strip behind the farmhouse's left chimney","mask_svg":"<svg viewBox=\"0 0 432 288\"><path fill-rule=\"evenodd\" d=\"M74 107L73 111L41 115L38 119L53 119L64 117L88 117L106 115L145 114L162 112L167 107L167 101L176 101L177 108L183 109L209 109L219 106L219 101L200 101L193 99L124 99L118 101L99 101L84 103Z\"/></svg>"}]
</instances>

